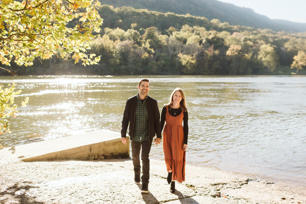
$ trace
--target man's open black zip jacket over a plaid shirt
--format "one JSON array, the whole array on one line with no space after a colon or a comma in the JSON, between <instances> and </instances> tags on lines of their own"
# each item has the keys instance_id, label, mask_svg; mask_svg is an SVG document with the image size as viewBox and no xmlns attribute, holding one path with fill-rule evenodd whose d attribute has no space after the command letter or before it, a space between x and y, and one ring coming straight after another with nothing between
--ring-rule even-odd
<instances>
[{"instance_id":1,"label":"man's open black zip jacket over a plaid shirt","mask_svg":"<svg viewBox=\"0 0 306 204\"><path fill-rule=\"evenodd\" d=\"M126 137L126 130L130 123L129 126L130 140L132 140L133 137L136 106L137 106L137 95L128 98L125 104L125 109L122 118L121 137ZM146 107L147 107L147 114L149 120L149 140L152 140L155 134L157 135L158 138L161 139L162 134L159 123L160 115L159 115L157 101L154 98L147 96Z\"/></svg>"}]
</instances>

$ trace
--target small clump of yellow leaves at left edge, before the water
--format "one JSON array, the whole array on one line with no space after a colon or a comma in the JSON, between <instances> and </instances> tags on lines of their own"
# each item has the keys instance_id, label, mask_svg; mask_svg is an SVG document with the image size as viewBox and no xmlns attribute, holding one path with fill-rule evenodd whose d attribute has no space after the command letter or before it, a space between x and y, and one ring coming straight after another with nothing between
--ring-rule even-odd
<instances>
[{"instance_id":1,"label":"small clump of yellow leaves at left edge, before the water","mask_svg":"<svg viewBox=\"0 0 306 204\"><path fill-rule=\"evenodd\" d=\"M12 86L9 84L8 88L3 89L3 85L0 84L0 139L1 136L5 135L6 133L10 133L9 131L9 120L12 117L16 117L17 105L14 104L14 97L20 94L21 90L15 90L15 83ZM29 97L26 97L21 105L24 107L28 103ZM0 149L3 148L0 144Z\"/></svg>"}]
</instances>

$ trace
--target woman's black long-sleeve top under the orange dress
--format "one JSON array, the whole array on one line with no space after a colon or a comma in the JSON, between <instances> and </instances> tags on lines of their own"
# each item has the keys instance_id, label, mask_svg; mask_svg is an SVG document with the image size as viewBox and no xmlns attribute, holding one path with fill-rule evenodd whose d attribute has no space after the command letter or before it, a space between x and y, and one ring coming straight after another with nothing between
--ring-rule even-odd
<instances>
[{"instance_id":1,"label":"woman's black long-sleeve top under the orange dress","mask_svg":"<svg viewBox=\"0 0 306 204\"><path fill-rule=\"evenodd\" d=\"M162 114L160 116L160 130L164 128L165 120L166 120L166 106L162 107ZM171 108L168 106L168 112L171 116L176 117L181 114L182 109L181 108ZM175 114L174 114L175 113ZM184 129L184 144L187 144L188 141L188 111L183 112L183 129Z\"/></svg>"}]
</instances>

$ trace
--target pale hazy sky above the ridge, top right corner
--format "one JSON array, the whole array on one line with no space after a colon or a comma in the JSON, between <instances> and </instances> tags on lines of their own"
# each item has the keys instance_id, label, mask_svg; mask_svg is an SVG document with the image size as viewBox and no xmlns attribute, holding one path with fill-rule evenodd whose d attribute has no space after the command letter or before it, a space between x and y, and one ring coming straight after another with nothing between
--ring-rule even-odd
<instances>
[{"instance_id":1,"label":"pale hazy sky above the ridge, top right corner","mask_svg":"<svg viewBox=\"0 0 306 204\"><path fill-rule=\"evenodd\" d=\"M306 23L306 0L218 0L253 9L271 19Z\"/></svg>"}]
</instances>

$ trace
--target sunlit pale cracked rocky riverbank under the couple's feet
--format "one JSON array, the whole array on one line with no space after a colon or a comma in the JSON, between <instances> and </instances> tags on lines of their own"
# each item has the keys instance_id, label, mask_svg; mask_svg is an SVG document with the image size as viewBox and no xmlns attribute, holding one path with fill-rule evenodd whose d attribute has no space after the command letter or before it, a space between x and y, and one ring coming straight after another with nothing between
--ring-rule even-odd
<instances>
[{"instance_id":1,"label":"sunlit pale cracked rocky riverbank under the couple's feet","mask_svg":"<svg viewBox=\"0 0 306 204\"><path fill-rule=\"evenodd\" d=\"M289 187L211 167L186 165L170 193L163 161L150 161L149 193L134 183L132 160L0 160L0 203L306 203Z\"/></svg>"}]
</instances>

